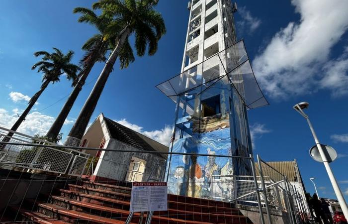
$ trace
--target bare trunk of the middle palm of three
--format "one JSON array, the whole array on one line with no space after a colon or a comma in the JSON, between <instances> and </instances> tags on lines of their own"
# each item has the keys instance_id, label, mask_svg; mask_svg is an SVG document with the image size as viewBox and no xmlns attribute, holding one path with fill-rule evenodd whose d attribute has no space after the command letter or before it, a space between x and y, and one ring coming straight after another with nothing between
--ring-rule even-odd
<instances>
[{"instance_id":1,"label":"bare trunk of the middle palm of three","mask_svg":"<svg viewBox=\"0 0 348 224\"><path fill-rule=\"evenodd\" d=\"M58 114L51 128L48 130L46 137L50 139L57 139L57 136L64 125L64 121L67 119L69 112L71 111L76 99L78 98L82 90L82 87L85 85L86 79L90 73L90 70L94 66L94 64L95 64L95 61L93 63L88 64L88 66L84 69L83 75L81 76L79 82L74 87L67 102L65 102L61 112Z\"/></svg>"}]
</instances>

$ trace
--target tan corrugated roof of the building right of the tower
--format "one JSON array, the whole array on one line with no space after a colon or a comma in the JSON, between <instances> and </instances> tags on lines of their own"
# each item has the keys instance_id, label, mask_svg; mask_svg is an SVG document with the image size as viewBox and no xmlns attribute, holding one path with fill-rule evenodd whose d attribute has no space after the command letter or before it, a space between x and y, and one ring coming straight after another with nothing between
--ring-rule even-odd
<instances>
[{"instance_id":1,"label":"tan corrugated roof of the building right of the tower","mask_svg":"<svg viewBox=\"0 0 348 224\"><path fill-rule=\"evenodd\" d=\"M296 161L279 161L279 162L266 162L269 166L277 170L279 173L286 175L287 179L292 182L300 182L300 178L297 177ZM261 163L263 176L270 177L273 181L282 180L282 176L274 171L264 163ZM255 163L256 175L260 176L259 164Z\"/></svg>"}]
</instances>

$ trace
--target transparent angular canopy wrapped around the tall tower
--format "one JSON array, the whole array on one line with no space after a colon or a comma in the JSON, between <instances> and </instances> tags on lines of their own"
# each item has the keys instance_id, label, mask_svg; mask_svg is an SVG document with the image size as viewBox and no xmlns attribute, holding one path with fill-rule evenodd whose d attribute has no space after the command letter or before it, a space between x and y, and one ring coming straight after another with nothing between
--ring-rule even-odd
<instances>
[{"instance_id":1,"label":"transparent angular canopy wrapped around the tall tower","mask_svg":"<svg viewBox=\"0 0 348 224\"><path fill-rule=\"evenodd\" d=\"M237 90L248 109L268 105L255 78L243 40L200 64L193 64L156 87L176 103L177 96L200 94L222 79Z\"/></svg>"}]
</instances>

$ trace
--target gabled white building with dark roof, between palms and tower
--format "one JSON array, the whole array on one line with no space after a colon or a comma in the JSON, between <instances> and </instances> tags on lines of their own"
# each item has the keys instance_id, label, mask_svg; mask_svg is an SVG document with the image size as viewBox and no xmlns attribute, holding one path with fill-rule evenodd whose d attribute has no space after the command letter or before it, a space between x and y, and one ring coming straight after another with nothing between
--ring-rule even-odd
<instances>
[{"instance_id":1,"label":"gabled white building with dark roof, between palms and tower","mask_svg":"<svg viewBox=\"0 0 348 224\"><path fill-rule=\"evenodd\" d=\"M91 157L97 158L92 175L95 181L160 181L164 177L167 154L151 152L168 152L168 147L104 117L102 113L89 126L81 142L81 147L111 149L85 150Z\"/></svg>"}]
</instances>

